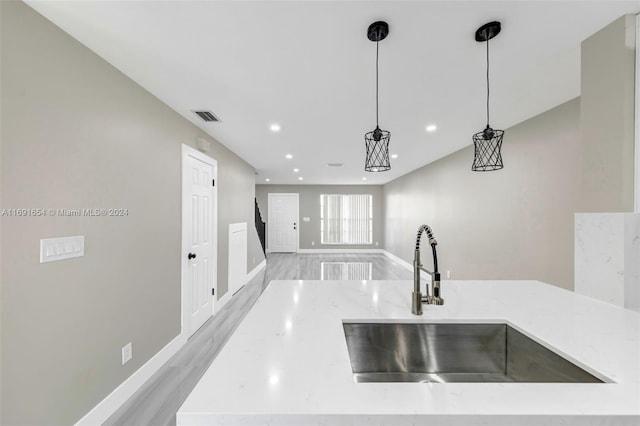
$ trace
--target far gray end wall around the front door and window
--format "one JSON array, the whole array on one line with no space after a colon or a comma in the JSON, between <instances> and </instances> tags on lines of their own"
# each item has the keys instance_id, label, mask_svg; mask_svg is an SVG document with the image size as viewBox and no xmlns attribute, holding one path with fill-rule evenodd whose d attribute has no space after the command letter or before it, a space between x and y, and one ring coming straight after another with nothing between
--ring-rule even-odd
<instances>
[{"instance_id":1,"label":"far gray end wall around the front door and window","mask_svg":"<svg viewBox=\"0 0 640 426\"><path fill-rule=\"evenodd\" d=\"M301 249L376 249L384 246L384 220L382 216L382 187L379 185L256 185L256 198L262 220L269 224L268 194L298 193L300 203ZM320 243L320 195L321 194L371 194L373 195L373 244L335 245ZM308 217L309 222L302 222ZM269 233L267 229L267 234ZM267 237L268 239L268 237ZM315 241L315 245L311 242ZM375 243L378 242L378 246Z\"/></svg>"}]
</instances>

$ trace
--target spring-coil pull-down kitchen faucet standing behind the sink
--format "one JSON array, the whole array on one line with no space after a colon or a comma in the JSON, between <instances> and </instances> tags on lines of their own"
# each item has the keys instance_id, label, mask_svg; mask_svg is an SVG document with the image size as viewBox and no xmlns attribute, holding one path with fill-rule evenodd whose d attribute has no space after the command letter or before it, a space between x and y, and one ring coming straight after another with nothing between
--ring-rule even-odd
<instances>
[{"instance_id":1,"label":"spring-coil pull-down kitchen faucet standing behind the sink","mask_svg":"<svg viewBox=\"0 0 640 426\"><path fill-rule=\"evenodd\" d=\"M423 268L420 261L420 239L422 234L426 234L431 245L431 253L433 254L433 272ZM413 257L413 293L411 294L411 312L415 315L422 315L422 304L428 305L442 305L444 300L440 297L440 273L438 272L438 253L436 246L438 242L433 236L433 231L428 225L422 225L418 228L418 235L416 236L416 249ZM420 271L425 271L431 275L431 295L429 295L429 288L426 289L426 296L422 296L420 292Z\"/></svg>"}]
</instances>

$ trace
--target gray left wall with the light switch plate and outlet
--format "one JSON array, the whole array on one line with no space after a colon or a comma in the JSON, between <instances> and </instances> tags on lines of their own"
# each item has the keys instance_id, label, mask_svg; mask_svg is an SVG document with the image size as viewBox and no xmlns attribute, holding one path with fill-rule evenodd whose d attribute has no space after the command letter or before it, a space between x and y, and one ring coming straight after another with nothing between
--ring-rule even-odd
<instances>
[{"instance_id":1,"label":"gray left wall with the light switch plate and outlet","mask_svg":"<svg viewBox=\"0 0 640 426\"><path fill-rule=\"evenodd\" d=\"M206 136L25 4L0 10L2 208L129 209L2 217L0 423L71 424L180 333L180 144ZM211 142L221 296L229 223L249 224L248 268L262 258L254 170ZM71 235L84 257L39 263L41 238Z\"/></svg>"}]
</instances>

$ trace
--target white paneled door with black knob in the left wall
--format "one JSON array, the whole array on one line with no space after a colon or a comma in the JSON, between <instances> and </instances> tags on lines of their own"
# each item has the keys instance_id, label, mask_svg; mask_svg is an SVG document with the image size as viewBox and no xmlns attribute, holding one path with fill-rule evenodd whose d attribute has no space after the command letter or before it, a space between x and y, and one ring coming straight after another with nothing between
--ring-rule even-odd
<instances>
[{"instance_id":1,"label":"white paneled door with black knob in the left wall","mask_svg":"<svg viewBox=\"0 0 640 426\"><path fill-rule=\"evenodd\" d=\"M213 315L216 283L216 162L183 145L183 330L193 335Z\"/></svg>"}]
</instances>

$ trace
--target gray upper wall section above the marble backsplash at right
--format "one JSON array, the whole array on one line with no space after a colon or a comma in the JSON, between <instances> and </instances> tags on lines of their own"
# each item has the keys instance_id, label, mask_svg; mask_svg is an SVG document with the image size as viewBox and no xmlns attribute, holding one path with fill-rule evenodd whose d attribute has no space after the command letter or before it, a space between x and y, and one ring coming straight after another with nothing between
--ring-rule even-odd
<instances>
[{"instance_id":1,"label":"gray upper wall section above the marble backsplash at right","mask_svg":"<svg viewBox=\"0 0 640 426\"><path fill-rule=\"evenodd\" d=\"M581 211L634 208L635 27L626 15L582 43Z\"/></svg>"}]
</instances>

